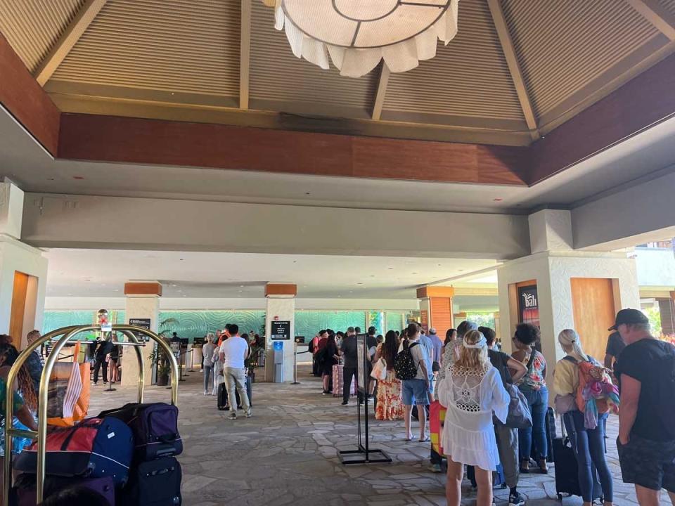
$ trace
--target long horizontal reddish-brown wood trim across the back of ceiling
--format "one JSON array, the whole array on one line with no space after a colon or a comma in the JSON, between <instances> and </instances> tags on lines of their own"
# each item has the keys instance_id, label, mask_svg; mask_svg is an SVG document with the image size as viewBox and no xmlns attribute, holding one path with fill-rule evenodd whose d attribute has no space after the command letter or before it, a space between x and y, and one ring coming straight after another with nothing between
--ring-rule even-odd
<instances>
[{"instance_id":1,"label":"long horizontal reddish-brown wood trim across the back of ceiling","mask_svg":"<svg viewBox=\"0 0 675 506\"><path fill-rule=\"evenodd\" d=\"M323 176L525 184L527 148L64 113L59 157Z\"/></svg>"}]
</instances>

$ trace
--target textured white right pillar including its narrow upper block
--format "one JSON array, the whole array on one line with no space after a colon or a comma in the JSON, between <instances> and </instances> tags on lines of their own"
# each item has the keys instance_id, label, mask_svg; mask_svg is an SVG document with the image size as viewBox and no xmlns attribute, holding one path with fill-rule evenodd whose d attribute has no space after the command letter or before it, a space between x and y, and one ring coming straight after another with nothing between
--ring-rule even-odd
<instances>
[{"instance_id":1,"label":"textured white right pillar including its narrow upper block","mask_svg":"<svg viewBox=\"0 0 675 506\"><path fill-rule=\"evenodd\" d=\"M529 216L529 225L534 253L497 269L501 338L504 351L510 353L511 337L519 323L518 284L534 282L541 349L551 372L564 356L558 344L560 330L579 330L586 351L595 350L597 355L600 343L608 336L605 329L613 323L610 313L629 307L639 309L636 263L625 253L574 251L568 211L537 212ZM579 290L583 283L589 285L587 292ZM597 297L595 287L603 288ZM594 332L581 332L584 326L589 327L584 317L596 313L602 313L607 321L598 320ZM596 358L602 360L602 356Z\"/></svg>"}]
</instances>

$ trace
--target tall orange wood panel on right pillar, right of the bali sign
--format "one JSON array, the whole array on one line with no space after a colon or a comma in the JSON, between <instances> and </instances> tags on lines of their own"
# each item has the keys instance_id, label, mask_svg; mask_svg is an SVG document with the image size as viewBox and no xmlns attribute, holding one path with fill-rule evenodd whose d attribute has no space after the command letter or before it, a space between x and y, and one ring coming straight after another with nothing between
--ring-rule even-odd
<instances>
[{"instance_id":1,"label":"tall orange wood panel on right pillar, right of the bali sign","mask_svg":"<svg viewBox=\"0 0 675 506\"><path fill-rule=\"evenodd\" d=\"M574 330L581 336L584 351L602 362L605 358L608 328L614 325L616 307L612 280L572 278Z\"/></svg>"}]
</instances>

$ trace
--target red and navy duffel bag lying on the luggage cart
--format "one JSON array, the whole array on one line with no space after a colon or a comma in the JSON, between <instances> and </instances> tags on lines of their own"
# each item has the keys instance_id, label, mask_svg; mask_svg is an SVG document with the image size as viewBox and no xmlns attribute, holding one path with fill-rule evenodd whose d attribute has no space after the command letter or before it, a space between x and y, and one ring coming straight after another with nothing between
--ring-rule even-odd
<instances>
[{"instance_id":1,"label":"red and navy duffel bag lying on the luggage cart","mask_svg":"<svg viewBox=\"0 0 675 506\"><path fill-rule=\"evenodd\" d=\"M54 476L112 476L115 486L123 486L133 454L134 436L122 420L87 418L75 427L58 427L47 434L45 471ZM17 456L14 469L37 472L37 443Z\"/></svg>"}]
</instances>

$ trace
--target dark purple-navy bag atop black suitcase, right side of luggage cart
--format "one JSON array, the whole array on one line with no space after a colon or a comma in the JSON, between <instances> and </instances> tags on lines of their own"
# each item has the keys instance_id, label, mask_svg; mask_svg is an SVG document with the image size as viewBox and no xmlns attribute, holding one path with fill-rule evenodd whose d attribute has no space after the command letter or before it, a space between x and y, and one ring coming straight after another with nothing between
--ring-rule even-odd
<instances>
[{"instance_id":1,"label":"dark purple-navy bag atop black suitcase, right side of luggage cart","mask_svg":"<svg viewBox=\"0 0 675 506\"><path fill-rule=\"evenodd\" d=\"M178 432L178 408L167 403L129 403L116 410L103 411L99 417L115 417L129 425L134 433L134 460L143 462L183 453Z\"/></svg>"}]
</instances>

